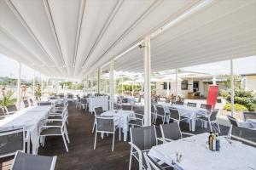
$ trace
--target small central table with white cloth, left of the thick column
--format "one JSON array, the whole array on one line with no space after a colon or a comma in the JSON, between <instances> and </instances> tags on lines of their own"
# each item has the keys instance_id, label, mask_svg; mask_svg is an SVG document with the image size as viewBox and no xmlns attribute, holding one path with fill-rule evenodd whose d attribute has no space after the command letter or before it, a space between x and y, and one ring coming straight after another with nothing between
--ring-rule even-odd
<instances>
[{"instance_id":1,"label":"small central table with white cloth, left of the thick column","mask_svg":"<svg viewBox=\"0 0 256 170\"><path fill-rule=\"evenodd\" d=\"M124 141L127 140L127 132L129 131L129 121L136 119L134 111L106 111L102 116L113 116L114 124L123 129Z\"/></svg>"}]
</instances>

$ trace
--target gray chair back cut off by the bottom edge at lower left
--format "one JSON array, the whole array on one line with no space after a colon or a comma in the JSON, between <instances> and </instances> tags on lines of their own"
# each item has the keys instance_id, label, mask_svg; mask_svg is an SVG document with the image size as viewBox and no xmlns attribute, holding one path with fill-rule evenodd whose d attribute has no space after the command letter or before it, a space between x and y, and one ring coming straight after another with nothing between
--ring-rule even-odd
<instances>
[{"instance_id":1,"label":"gray chair back cut off by the bottom edge at lower left","mask_svg":"<svg viewBox=\"0 0 256 170\"><path fill-rule=\"evenodd\" d=\"M37 156L17 151L12 170L54 170L56 156Z\"/></svg>"}]
</instances>

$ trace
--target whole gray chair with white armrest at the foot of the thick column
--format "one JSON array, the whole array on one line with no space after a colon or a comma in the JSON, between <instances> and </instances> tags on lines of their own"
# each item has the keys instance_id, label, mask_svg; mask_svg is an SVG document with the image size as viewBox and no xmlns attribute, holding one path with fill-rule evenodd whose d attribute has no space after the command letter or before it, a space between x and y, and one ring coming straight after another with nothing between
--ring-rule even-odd
<instances>
[{"instance_id":1,"label":"whole gray chair with white armrest at the foot of the thick column","mask_svg":"<svg viewBox=\"0 0 256 170\"><path fill-rule=\"evenodd\" d=\"M129 170L131 170L131 160L133 156L139 162L139 170L146 169L145 167L147 167L147 165L143 158L143 153L148 152L148 150L158 144L155 127L131 127L130 134L131 142L129 142L129 144L131 144L131 153Z\"/></svg>"}]
</instances>

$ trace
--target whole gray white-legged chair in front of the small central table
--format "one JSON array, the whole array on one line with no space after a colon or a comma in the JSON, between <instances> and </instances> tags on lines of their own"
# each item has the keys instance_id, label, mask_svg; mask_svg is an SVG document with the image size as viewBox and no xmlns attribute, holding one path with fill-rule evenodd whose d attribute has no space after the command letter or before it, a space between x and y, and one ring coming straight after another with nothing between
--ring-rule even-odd
<instances>
[{"instance_id":1,"label":"whole gray white-legged chair in front of the small central table","mask_svg":"<svg viewBox=\"0 0 256 170\"><path fill-rule=\"evenodd\" d=\"M112 133L113 134L113 142L112 142L112 151L114 145L114 133L117 127L113 123L113 116L96 116L96 133L95 133L95 141L94 141L94 150L96 149L96 139L97 133Z\"/></svg>"}]
</instances>

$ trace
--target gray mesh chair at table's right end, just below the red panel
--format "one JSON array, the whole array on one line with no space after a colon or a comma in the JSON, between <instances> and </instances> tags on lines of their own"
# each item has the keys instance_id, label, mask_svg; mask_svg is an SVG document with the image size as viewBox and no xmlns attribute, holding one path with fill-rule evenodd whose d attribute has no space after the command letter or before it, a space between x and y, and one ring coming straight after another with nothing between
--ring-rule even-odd
<instances>
[{"instance_id":1,"label":"gray mesh chair at table's right end, just below the red panel","mask_svg":"<svg viewBox=\"0 0 256 170\"><path fill-rule=\"evenodd\" d=\"M204 116L197 117L197 120L200 120L201 122L208 122L211 132L213 130L212 128L212 125L214 125L213 123L216 123L218 127L218 133L221 133L217 116L218 116L218 109L212 110L210 113L207 113Z\"/></svg>"}]
</instances>

